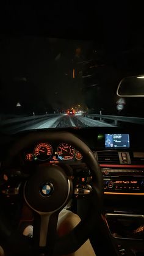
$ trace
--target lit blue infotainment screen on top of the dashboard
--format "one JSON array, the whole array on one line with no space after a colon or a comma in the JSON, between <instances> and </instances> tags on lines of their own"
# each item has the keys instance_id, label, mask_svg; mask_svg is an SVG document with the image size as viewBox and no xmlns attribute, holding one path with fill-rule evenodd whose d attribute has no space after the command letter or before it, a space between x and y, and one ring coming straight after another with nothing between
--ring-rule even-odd
<instances>
[{"instance_id":1,"label":"lit blue infotainment screen on top of the dashboard","mask_svg":"<svg viewBox=\"0 0 144 256\"><path fill-rule=\"evenodd\" d=\"M105 134L106 148L129 148L129 134Z\"/></svg>"}]
</instances>

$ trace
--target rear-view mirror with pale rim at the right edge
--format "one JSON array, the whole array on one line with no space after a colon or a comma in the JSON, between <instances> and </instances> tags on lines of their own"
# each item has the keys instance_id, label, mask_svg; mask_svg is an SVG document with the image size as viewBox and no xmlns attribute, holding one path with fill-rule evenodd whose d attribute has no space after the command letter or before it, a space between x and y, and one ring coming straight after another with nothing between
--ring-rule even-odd
<instances>
[{"instance_id":1,"label":"rear-view mirror with pale rim at the right edge","mask_svg":"<svg viewBox=\"0 0 144 256\"><path fill-rule=\"evenodd\" d=\"M118 84L120 97L144 97L144 75L123 78Z\"/></svg>"}]
</instances>

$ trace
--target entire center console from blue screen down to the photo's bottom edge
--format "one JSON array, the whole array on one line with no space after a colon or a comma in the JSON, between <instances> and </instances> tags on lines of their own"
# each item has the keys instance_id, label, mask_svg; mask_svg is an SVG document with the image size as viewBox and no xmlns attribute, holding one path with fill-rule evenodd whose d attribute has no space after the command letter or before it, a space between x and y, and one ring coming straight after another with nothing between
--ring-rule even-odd
<instances>
[{"instance_id":1,"label":"entire center console from blue screen down to the photo's bottom edge","mask_svg":"<svg viewBox=\"0 0 144 256\"><path fill-rule=\"evenodd\" d=\"M95 156L104 180L104 222L118 255L142 256L144 153L130 148L129 134L104 134L102 144Z\"/></svg>"}]
</instances>

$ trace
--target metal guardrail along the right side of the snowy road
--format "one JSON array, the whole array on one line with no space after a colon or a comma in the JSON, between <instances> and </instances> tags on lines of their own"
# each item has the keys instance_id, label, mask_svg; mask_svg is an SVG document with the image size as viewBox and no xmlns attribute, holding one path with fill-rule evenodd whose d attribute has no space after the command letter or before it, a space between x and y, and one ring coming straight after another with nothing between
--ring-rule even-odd
<instances>
[{"instance_id":1,"label":"metal guardrail along the right side of the snowy road","mask_svg":"<svg viewBox=\"0 0 144 256\"><path fill-rule=\"evenodd\" d=\"M95 119L95 117L99 118L99 120L103 121L103 119L110 119L115 121L115 125L117 125L118 121L127 122L127 123L137 123L139 125L144 125L144 118L142 117L125 117L120 115L99 115L99 114L83 114L85 117Z\"/></svg>"}]
</instances>

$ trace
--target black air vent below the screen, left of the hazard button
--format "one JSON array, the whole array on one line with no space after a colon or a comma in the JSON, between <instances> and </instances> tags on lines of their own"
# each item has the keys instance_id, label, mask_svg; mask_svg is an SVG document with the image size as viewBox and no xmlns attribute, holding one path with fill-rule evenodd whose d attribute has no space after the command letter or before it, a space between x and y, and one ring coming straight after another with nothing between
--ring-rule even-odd
<instances>
[{"instance_id":1,"label":"black air vent below the screen, left of the hazard button","mask_svg":"<svg viewBox=\"0 0 144 256\"><path fill-rule=\"evenodd\" d=\"M118 152L99 151L96 156L99 164L120 164Z\"/></svg>"}]
</instances>

